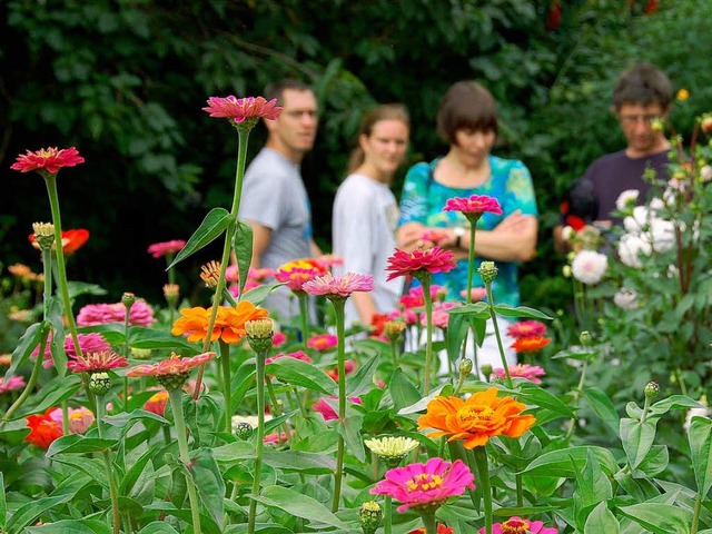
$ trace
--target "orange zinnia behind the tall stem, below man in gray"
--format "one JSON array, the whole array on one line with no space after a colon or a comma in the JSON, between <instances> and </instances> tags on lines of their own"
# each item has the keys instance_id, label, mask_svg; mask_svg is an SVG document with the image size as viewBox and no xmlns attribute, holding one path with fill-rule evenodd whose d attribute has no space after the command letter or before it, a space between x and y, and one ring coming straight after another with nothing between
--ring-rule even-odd
<instances>
[{"instance_id":1,"label":"orange zinnia behind the tall stem, below man in gray","mask_svg":"<svg viewBox=\"0 0 712 534\"><path fill-rule=\"evenodd\" d=\"M235 308L228 306L218 306L218 316L215 320L215 327L210 334L210 340L215 342L218 337L225 343L239 343L245 336L245 323L254 319L267 317L268 312L257 308L248 300L240 300ZM181 309L180 315L174 323L170 333L174 336L181 334L188 335L188 342L195 343L204 340L208 332L208 323L210 322L210 308L187 308Z\"/></svg>"}]
</instances>

